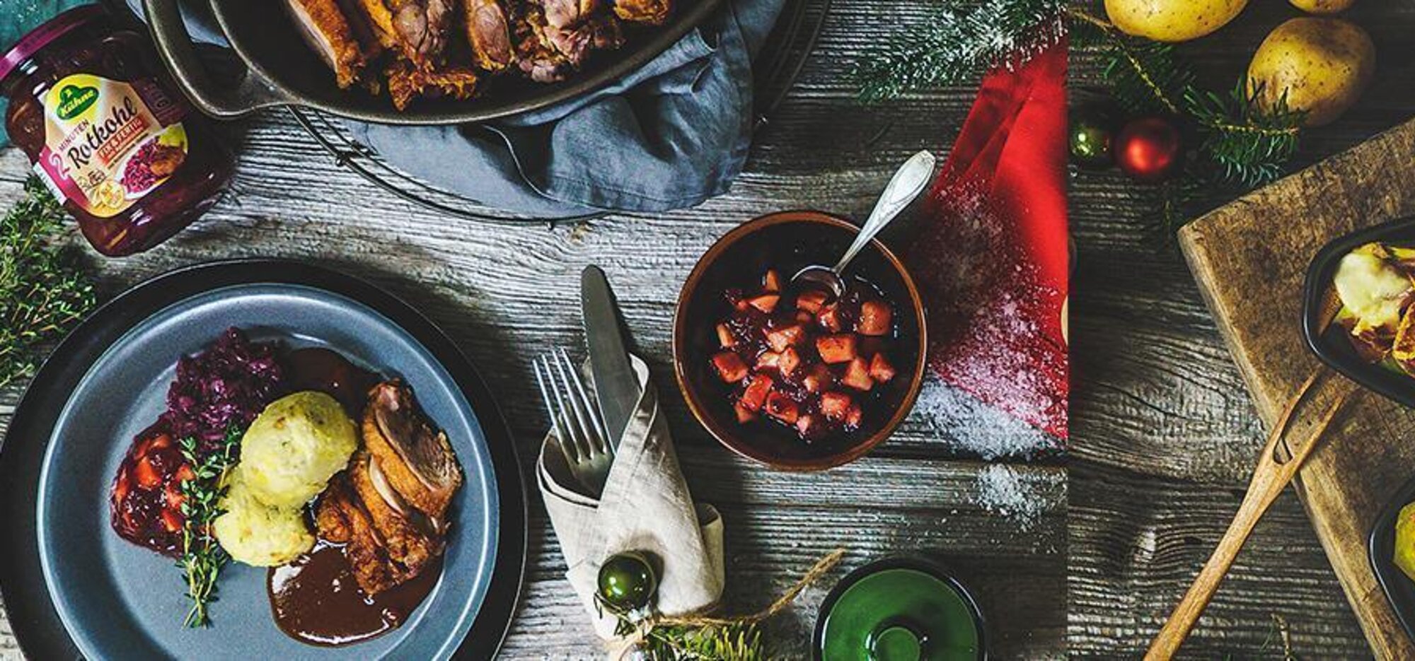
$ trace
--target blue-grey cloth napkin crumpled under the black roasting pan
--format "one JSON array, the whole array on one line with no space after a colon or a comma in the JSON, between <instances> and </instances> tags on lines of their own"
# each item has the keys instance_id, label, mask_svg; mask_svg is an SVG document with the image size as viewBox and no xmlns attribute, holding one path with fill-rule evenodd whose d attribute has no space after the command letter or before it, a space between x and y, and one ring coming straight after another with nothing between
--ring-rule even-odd
<instances>
[{"instance_id":1,"label":"blue-grey cloth napkin crumpled under the black roasting pan","mask_svg":"<svg viewBox=\"0 0 1415 661\"><path fill-rule=\"evenodd\" d=\"M142 0L127 3L142 16ZM393 167L497 209L559 218L693 206L741 174L751 58L782 4L724 0L638 71L542 110L450 127L345 124ZM187 16L197 41L224 45L207 17Z\"/></svg>"}]
</instances>

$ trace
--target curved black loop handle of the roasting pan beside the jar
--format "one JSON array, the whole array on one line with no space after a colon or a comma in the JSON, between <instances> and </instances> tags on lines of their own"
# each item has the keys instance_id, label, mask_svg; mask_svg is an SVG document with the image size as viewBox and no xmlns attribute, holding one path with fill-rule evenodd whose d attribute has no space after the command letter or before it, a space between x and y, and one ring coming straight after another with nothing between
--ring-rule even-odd
<instances>
[{"instance_id":1,"label":"curved black loop handle of the roasting pan beside the jar","mask_svg":"<svg viewBox=\"0 0 1415 661\"><path fill-rule=\"evenodd\" d=\"M147 27L157 44L157 52L167 62L167 69L171 71L183 93L201 112L218 119L235 119L262 107L294 103L293 97L275 89L249 66L235 86L212 82L191 47L191 35L187 34L177 4L177 0L143 0Z\"/></svg>"}]
</instances>

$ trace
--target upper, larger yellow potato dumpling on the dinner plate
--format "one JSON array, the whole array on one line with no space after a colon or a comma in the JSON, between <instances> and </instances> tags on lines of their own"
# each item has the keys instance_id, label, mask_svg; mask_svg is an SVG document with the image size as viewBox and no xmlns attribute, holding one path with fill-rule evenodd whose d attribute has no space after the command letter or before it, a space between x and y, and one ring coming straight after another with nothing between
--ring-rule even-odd
<instances>
[{"instance_id":1,"label":"upper, larger yellow potato dumpling on the dinner plate","mask_svg":"<svg viewBox=\"0 0 1415 661\"><path fill-rule=\"evenodd\" d=\"M358 449L354 421L324 393L282 397L260 411L241 439L236 479L270 507L301 507Z\"/></svg>"}]
</instances>

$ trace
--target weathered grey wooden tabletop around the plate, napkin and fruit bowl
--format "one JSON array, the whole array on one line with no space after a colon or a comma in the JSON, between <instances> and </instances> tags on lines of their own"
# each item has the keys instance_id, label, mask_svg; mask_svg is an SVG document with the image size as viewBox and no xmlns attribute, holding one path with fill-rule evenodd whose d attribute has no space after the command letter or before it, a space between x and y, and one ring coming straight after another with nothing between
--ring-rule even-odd
<instances>
[{"instance_id":1,"label":"weathered grey wooden tabletop around the plate, napkin and fruit bowl","mask_svg":"<svg viewBox=\"0 0 1415 661\"><path fill-rule=\"evenodd\" d=\"M934 148L942 155L951 144L972 103L971 86L862 107L845 82L862 45L920 16L921 8L904 0L835 3L819 51L758 134L747 172L729 195L696 209L553 229L458 220L371 189L333 162L284 113L272 112L239 127L239 172L232 193L211 213L147 254L92 261L105 294L177 266L246 256L314 260L388 287L441 325L478 364L509 418L528 483L533 483L531 459L546 424L529 359L552 346L579 352L579 273L599 264L608 271L665 394L688 482L695 496L716 504L726 518L730 610L764 606L819 556L846 548L842 568L774 626L781 651L798 658L807 650L815 605L835 579L876 558L917 552L952 566L976 590L999 657L1058 657L1067 627L1065 469L1054 458L1010 458L998 468L961 449L979 442L1016 445L1026 441L1024 431L990 417L957 415L935 391L938 414L916 412L869 458L826 473L774 473L737 459L708 436L678 397L669 369L678 288L715 239L780 209L818 208L863 218L908 154ZM27 171L17 150L0 151L0 202L18 195ZM1138 253L1122 254L1133 260ZM1166 273L1182 280L1174 264ZM1199 316L1196 306L1186 309ZM1206 333L1207 328L1197 342L1211 347ZM1221 357L1215 355L1214 362ZM0 425L18 395L18 390L0 394ZM1241 400L1235 395L1234 403ZM1009 501L999 492L1019 486L1024 501ZM1081 523L1088 523L1091 511L1082 508ZM1082 537L1082 549L1094 540L1124 541L1105 537L1105 525L1090 530L1102 537ZM1090 562L1081 569L1105 566ZM525 593L504 657L597 654L584 613L562 578L565 569L532 493ZM175 575L171 589L178 589ZM0 617L0 657L18 655Z\"/></svg>"}]
</instances>

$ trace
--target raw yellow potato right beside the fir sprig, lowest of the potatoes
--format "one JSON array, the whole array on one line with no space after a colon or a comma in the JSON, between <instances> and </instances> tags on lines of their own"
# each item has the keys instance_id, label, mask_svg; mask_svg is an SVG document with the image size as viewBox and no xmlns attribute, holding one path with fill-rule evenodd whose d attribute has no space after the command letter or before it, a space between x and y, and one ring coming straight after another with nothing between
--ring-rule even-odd
<instances>
[{"instance_id":1,"label":"raw yellow potato right beside the fir sprig, lowest of the potatoes","mask_svg":"<svg viewBox=\"0 0 1415 661\"><path fill-rule=\"evenodd\" d=\"M1262 85L1258 102L1272 106L1282 93L1288 107L1306 110L1306 126L1336 121L1371 82L1375 44L1341 18L1292 18L1262 40L1248 65L1249 85Z\"/></svg>"}]
</instances>

